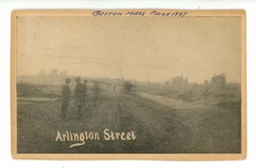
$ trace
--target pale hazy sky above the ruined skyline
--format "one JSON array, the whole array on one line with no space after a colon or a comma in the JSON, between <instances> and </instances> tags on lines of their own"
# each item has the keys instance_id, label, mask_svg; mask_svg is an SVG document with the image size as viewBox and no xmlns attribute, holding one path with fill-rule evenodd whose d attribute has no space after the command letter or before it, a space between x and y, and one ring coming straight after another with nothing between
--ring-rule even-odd
<instances>
[{"instance_id":1,"label":"pale hazy sky above the ruined skyline","mask_svg":"<svg viewBox=\"0 0 256 168\"><path fill-rule=\"evenodd\" d=\"M239 17L19 17L17 74L241 84Z\"/></svg>"}]
</instances>

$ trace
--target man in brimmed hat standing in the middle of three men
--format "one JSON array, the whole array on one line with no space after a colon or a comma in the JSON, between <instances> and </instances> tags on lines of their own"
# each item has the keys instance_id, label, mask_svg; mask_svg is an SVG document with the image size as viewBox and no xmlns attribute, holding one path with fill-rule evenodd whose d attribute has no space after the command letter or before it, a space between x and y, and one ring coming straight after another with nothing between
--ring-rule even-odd
<instances>
[{"instance_id":1,"label":"man in brimmed hat standing in the middle of three men","mask_svg":"<svg viewBox=\"0 0 256 168\"><path fill-rule=\"evenodd\" d=\"M76 88L74 90L74 102L78 107L79 116L78 119L82 117L82 109L84 107L84 84L81 83L81 78L76 78L75 82L77 83Z\"/></svg>"}]
</instances>

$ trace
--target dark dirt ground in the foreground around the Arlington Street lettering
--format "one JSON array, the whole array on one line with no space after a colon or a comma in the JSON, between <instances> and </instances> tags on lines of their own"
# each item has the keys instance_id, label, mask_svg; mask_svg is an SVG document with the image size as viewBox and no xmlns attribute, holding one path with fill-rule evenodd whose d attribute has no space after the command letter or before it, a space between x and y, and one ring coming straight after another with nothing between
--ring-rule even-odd
<instances>
[{"instance_id":1,"label":"dark dirt ground in the foreground around the Arlington Street lettering","mask_svg":"<svg viewBox=\"0 0 256 168\"><path fill-rule=\"evenodd\" d=\"M83 117L70 102L67 121L61 101L18 104L18 153L240 153L240 107L176 110L136 95L104 94ZM104 141L103 130L135 131L135 141ZM95 131L100 141L69 148L55 142L57 131Z\"/></svg>"}]
</instances>

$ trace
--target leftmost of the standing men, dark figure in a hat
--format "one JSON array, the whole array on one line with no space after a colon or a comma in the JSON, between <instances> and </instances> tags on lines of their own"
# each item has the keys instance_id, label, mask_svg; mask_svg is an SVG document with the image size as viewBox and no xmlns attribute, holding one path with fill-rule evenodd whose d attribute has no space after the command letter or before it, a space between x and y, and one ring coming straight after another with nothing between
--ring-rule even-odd
<instances>
[{"instance_id":1,"label":"leftmost of the standing men, dark figure in a hat","mask_svg":"<svg viewBox=\"0 0 256 168\"><path fill-rule=\"evenodd\" d=\"M66 119L67 107L70 100L71 90L69 89L70 78L66 78L65 84L62 86L61 96L61 119Z\"/></svg>"}]
</instances>

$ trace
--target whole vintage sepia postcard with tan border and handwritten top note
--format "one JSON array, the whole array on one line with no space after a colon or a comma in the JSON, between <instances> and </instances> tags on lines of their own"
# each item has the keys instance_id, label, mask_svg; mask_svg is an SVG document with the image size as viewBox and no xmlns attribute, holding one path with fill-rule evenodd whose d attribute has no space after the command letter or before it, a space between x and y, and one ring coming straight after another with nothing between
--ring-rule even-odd
<instances>
[{"instance_id":1,"label":"whole vintage sepia postcard with tan border and handwritten top note","mask_svg":"<svg viewBox=\"0 0 256 168\"><path fill-rule=\"evenodd\" d=\"M244 10L15 10L15 159L245 159Z\"/></svg>"}]
</instances>

